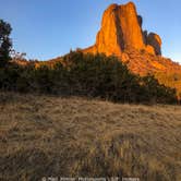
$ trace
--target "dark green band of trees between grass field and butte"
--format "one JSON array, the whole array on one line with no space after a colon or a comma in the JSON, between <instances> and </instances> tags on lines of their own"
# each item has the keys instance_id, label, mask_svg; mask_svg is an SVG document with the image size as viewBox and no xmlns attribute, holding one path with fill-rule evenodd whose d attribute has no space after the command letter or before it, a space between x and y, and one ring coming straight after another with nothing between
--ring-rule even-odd
<instances>
[{"instance_id":1,"label":"dark green band of trees between grass field and butte","mask_svg":"<svg viewBox=\"0 0 181 181\"><path fill-rule=\"evenodd\" d=\"M71 51L52 65L41 64L37 68L35 62L26 65L11 63L9 61L11 26L1 23L7 29L0 31L2 90L99 97L123 102L177 102L176 89L160 85L152 75L140 77L131 73L116 57Z\"/></svg>"}]
</instances>

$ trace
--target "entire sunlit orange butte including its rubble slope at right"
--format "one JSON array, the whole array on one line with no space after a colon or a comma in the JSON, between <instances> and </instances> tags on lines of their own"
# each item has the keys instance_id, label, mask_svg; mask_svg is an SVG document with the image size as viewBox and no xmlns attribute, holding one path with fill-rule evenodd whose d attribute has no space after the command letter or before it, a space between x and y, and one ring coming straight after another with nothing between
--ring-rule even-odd
<instances>
[{"instance_id":1,"label":"entire sunlit orange butte including its rubble slope at right","mask_svg":"<svg viewBox=\"0 0 181 181\"><path fill-rule=\"evenodd\" d=\"M117 56L133 73L154 74L161 84L177 88L181 98L181 65L161 56L161 38L144 31L142 23L133 2L111 4L104 12L95 45L82 51Z\"/></svg>"}]
</instances>

